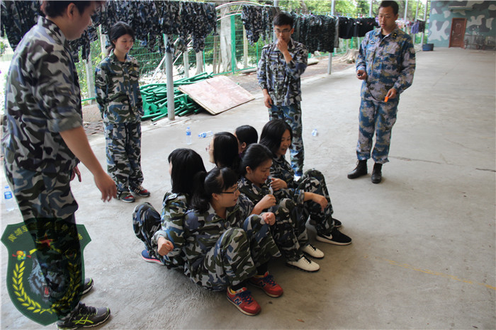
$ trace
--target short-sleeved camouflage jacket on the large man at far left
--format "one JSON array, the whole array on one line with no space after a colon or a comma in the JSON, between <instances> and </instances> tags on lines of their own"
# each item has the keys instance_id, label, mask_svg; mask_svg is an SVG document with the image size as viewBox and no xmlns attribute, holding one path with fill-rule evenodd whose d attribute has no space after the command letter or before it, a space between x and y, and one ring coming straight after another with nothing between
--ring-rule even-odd
<instances>
[{"instance_id":1,"label":"short-sleeved camouflage jacket on the large man at far left","mask_svg":"<svg viewBox=\"0 0 496 330\"><path fill-rule=\"evenodd\" d=\"M67 39L46 18L16 49L4 113L1 146L14 168L59 173L79 163L60 136L83 125L79 78Z\"/></svg>"}]
</instances>

